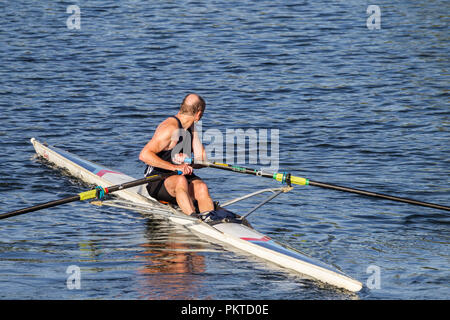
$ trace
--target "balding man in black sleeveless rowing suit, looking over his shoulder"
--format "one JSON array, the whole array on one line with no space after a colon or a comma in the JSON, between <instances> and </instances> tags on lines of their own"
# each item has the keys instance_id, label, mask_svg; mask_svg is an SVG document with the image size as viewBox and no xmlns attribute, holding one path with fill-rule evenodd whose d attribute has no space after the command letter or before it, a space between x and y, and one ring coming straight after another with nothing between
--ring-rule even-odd
<instances>
[{"instance_id":1,"label":"balding man in black sleeveless rowing suit, looking over his shoulder","mask_svg":"<svg viewBox=\"0 0 450 320\"><path fill-rule=\"evenodd\" d=\"M152 139L142 149L139 160L147 164L146 176L179 170L182 175L170 176L151 182L147 190L153 198L177 204L187 215L198 217L198 211L214 210L214 203L207 185L195 174L193 168L183 163L191 157L206 161L206 152L194 123L205 111L206 103L197 94L188 94L181 103L179 112L164 120L156 129Z\"/></svg>"}]
</instances>

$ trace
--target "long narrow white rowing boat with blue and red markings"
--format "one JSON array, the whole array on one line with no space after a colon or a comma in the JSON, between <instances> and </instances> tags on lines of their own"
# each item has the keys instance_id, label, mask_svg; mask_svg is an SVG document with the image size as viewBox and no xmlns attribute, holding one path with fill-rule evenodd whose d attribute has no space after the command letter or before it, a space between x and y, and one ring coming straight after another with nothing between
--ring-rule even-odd
<instances>
[{"instance_id":1,"label":"long narrow white rowing boat with blue and red markings","mask_svg":"<svg viewBox=\"0 0 450 320\"><path fill-rule=\"evenodd\" d=\"M135 180L133 177L106 168L97 163L84 160L70 152L44 145L35 138L32 138L31 142L39 156L45 158L56 167L67 170L71 175L88 184L107 188L112 185ZM289 188L287 187L264 189L228 201L222 204L221 207L264 192L277 195L287 191L289 191ZM115 194L120 200L107 200L103 201L103 203L115 207L132 209L143 214L163 216L173 223L182 225L191 230L203 239L223 245L224 248L246 252L338 288L343 288L352 292L357 292L362 288L362 284L359 281L350 278L337 268L281 244L256 231L247 224L239 223L234 220L208 224L200 219L186 216L177 207L162 204L150 197L143 185L120 190ZM273 197L274 196L271 196L271 198Z\"/></svg>"}]
</instances>

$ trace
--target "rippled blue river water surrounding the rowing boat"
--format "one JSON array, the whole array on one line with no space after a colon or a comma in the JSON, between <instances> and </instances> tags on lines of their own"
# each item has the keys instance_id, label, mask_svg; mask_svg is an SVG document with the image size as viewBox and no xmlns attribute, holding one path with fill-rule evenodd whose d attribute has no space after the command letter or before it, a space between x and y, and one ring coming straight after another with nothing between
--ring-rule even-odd
<instances>
[{"instance_id":1,"label":"rippled blue river water surrounding the rowing boat","mask_svg":"<svg viewBox=\"0 0 450 320\"><path fill-rule=\"evenodd\" d=\"M138 178L141 148L189 92L207 103L206 145L241 129L261 149L275 132L280 171L450 205L450 4L376 5L379 29L354 0L0 1L0 212L87 187L36 159L30 138ZM198 175L220 201L279 186ZM73 203L1 221L0 299L450 297L445 211L299 186L249 220L363 290L319 285L161 218Z\"/></svg>"}]
</instances>

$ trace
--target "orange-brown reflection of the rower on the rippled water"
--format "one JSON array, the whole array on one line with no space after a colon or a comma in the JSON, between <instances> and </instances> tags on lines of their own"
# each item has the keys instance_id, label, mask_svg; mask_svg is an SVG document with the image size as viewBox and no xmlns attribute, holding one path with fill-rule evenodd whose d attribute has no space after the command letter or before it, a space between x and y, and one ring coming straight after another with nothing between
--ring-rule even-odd
<instances>
[{"instance_id":1,"label":"orange-brown reflection of the rower on the rippled water","mask_svg":"<svg viewBox=\"0 0 450 320\"><path fill-rule=\"evenodd\" d=\"M203 252L211 251L207 242L176 228L164 220L149 219L147 243L139 257L144 266L139 269L141 298L197 299L201 297L205 272ZM198 295L198 296L197 296Z\"/></svg>"}]
</instances>

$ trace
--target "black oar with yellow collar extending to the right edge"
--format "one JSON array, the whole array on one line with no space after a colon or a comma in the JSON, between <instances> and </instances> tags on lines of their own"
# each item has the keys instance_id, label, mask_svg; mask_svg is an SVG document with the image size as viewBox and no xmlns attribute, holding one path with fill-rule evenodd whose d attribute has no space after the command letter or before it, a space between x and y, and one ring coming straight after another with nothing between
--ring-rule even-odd
<instances>
[{"instance_id":1,"label":"black oar with yellow collar extending to the right edge","mask_svg":"<svg viewBox=\"0 0 450 320\"><path fill-rule=\"evenodd\" d=\"M188 160L188 162L189 162L189 160ZM205 166L205 167L209 167L209 168L215 168L215 169L221 169L221 170L228 170L228 171L234 171L234 172L239 172L239 173L251 174L251 175L265 177L265 178L272 178L272 179L275 179L275 180L283 182L283 183L285 182L287 184L310 185L310 186L316 186L316 187L321 187L321 188L327 188L327 189L339 190L339 191L344 191L344 192L356 193L356 194L369 196L369 197L375 197L375 198L382 198L382 199L387 199L387 200L392 200L392 201L404 202L404 203L409 203L409 204L413 204L413 205L417 205L417 206L423 206L423 207L429 207L429 208L434 208L434 209L450 211L450 207L443 206L443 205L440 205L440 204L423 202L423 201L418 201L418 200L408 199L408 198L400 198L400 197L396 197L396 196L391 196L391 195L382 194L382 193L376 193L376 192L371 192L371 191L365 191L365 190L360 190L360 189L342 187L342 186L338 186L338 185L335 185L335 184L329 184L329 183L323 183L323 182L319 182L319 181L313 181L313 180L310 180L310 179L307 179L307 178L295 177L295 176L290 175L289 173L267 173L267 172L262 172L261 170L255 170L255 169L251 169L251 168L244 168L244 167L239 167L239 166L233 166L233 165L229 165L229 164L226 164L226 163L218 163L218 162L205 162L205 161L198 162L198 161L195 161L195 164L198 164L198 165L201 165L201 166Z\"/></svg>"}]
</instances>

